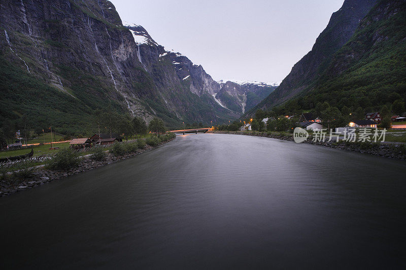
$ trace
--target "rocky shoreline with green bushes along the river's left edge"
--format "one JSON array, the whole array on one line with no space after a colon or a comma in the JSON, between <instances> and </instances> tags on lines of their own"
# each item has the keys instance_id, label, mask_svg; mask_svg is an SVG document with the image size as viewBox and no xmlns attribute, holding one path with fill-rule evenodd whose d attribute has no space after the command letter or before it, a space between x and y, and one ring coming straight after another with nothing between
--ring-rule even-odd
<instances>
[{"instance_id":1,"label":"rocky shoreline with green bushes along the river's left edge","mask_svg":"<svg viewBox=\"0 0 406 270\"><path fill-rule=\"evenodd\" d=\"M5 197L11 194L14 194L18 191L29 189L32 187L40 186L46 184L48 182L55 181L57 179L61 179L70 175L74 175L77 173L85 172L91 169L95 169L97 167L105 166L111 164L116 161L125 160L141 153L147 152L149 150L158 148L159 146L166 144L168 142L173 141L175 138L161 142L158 146L152 147L150 145L146 145L143 149L137 149L134 152L126 153L122 156L114 156L112 153L107 152L106 157L101 161L95 161L90 159L90 157L84 157L80 161L78 166L75 166L69 170L49 170L38 168L34 172L32 172L32 176L26 178L22 181L13 181L13 180L1 180L0 181L0 197Z\"/></svg>"}]
</instances>

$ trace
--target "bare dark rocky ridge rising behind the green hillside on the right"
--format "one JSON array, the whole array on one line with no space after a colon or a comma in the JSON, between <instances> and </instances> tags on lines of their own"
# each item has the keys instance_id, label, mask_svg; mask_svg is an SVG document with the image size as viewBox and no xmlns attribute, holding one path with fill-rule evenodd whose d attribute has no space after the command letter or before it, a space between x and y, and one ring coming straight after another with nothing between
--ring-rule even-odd
<instances>
[{"instance_id":1,"label":"bare dark rocky ridge rising behind the green hillside on the right","mask_svg":"<svg viewBox=\"0 0 406 270\"><path fill-rule=\"evenodd\" d=\"M258 108L269 109L282 104L315 84L334 54L350 40L360 21L376 3L377 0L345 0L341 9L331 15L312 50L292 67L278 89L248 114Z\"/></svg>"}]
</instances>

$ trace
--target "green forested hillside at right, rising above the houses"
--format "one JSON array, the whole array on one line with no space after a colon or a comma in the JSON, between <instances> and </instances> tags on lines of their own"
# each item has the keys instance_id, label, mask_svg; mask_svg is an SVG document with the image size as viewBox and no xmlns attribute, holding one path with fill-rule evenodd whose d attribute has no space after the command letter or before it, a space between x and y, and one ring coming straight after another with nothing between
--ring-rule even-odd
<instances>
[{"instance_id":1,"label":"green forested hillside at right, rising above the houses","mask_svg":"<svg viewBox=\"0 0 406 270\"><path fill-rule=\"evenodd\" d=\"M405 93L406 3L383 0L361 21L320 78L277 110L310 109L327 101L341 110L374 111L383 105L391 108L394 102L404 104ZM404 106L398 110L392 109L402 113Z\"/></svg>"}]
</instances>

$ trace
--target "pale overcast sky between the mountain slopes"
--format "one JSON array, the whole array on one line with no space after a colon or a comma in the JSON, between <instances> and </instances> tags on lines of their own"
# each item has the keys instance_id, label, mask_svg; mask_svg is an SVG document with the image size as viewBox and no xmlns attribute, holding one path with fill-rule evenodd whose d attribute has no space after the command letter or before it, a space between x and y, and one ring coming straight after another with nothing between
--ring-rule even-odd
<instances>
[{"instance_id":1,"label":"pale overcast sky between the mountain slopes","mask_svg":"<svg viewBox=\"0 0 406 270\"><path fill-rule=\"evenodd\" d=\"M111 0L215 80L282 81L344 0Z\"/></svg>"}]
</instances>

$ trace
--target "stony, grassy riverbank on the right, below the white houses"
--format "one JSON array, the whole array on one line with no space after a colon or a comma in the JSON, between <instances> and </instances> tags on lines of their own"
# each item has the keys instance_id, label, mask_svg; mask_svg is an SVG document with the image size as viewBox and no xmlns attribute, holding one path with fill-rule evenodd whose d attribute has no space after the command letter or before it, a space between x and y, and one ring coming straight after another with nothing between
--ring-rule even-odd
<instances>
[{"instance_id":1,"label":"stony, grassy riverbank on the right, below the white houses","mask_svg":"<svg viewBox=\"0 0 406 270\"><path fill-rule=\"evenodd\" d=\"M293 141L293 134L272 132L248 132L248 131L210 131L217 134L235 134L256 137L266 137L284 141ZM403 143L360 143L360 142L313 142L311 138L302 143L322 145L330 148L343 149L359 153L367 153L385 158L406 160L406 145Z\"/></svg>"}]
</instances>

